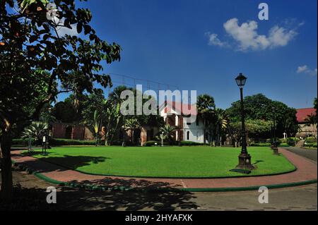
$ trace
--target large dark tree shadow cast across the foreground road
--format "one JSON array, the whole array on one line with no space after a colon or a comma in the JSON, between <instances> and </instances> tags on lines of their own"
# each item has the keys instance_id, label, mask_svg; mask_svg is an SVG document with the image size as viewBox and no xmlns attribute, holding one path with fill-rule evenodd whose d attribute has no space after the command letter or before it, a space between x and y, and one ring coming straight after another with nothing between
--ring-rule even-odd
<instances>
[{"instance_id":1,"label":"large dark tree shadow cast across the foreground road","mask_svg":"<svg viewBox=\"0 0 318 225\"><path fill-rule=\"evenodd\" d=\"M20 172L18 173L20 174ZM16 176L18 176L16 174ZM30 174L23 174L23 181L16 183L14 187L13 203L4 205L0 202L0 210L13 211L55 211L55 210L127 210L140 209L152 210L175 210L175 209L196 209L194 196L187 191L177 188L170 190L127 190L127 191L88 191L78 188L57 188L57 204L47 204L45 188L37 188L37 181L33 181L35 188L23 188L23 182L30 178ZM32 178L34 179L34 178ZM1 181L0 181L1 182ZM40 182L40 180L39 180ZM42 181L41 181L42 182ZM104 181L105 182L105 181ZM138 186L152 186L160 188L167 183L136 181L129 179L110 179L109 183L126 183ZM49 183L47 186L52 186Z\"/></svg>"}]
</instances>

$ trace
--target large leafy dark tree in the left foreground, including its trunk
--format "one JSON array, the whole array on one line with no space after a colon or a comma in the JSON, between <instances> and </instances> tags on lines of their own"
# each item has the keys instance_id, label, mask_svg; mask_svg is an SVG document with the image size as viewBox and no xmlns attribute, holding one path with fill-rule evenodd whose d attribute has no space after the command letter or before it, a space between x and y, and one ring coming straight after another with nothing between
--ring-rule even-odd
<instances>
[{"instance_id":1,"label":"large leafy dark tree in the left foreground, including its trunk","mask_svg":"<svg viewBox=\"0 0 318 225\"><path fill-rule=\"evenodd\" d=\"M81 74L76 90L94 92L93 83L111 85L110 76L100 73L102 61L120 59L119 45L107 44L90 26L88 9L77 8L75 0L55 0L56 10L51 11L48 4L48 0L0 1L1 197L6 202L12 198L14 129L23 130L36 120L59 93L74 91L59 90L57 84L75 88L76 74ZM62 35L68 29L78 36Z\"/></svg>"}]
</instances>

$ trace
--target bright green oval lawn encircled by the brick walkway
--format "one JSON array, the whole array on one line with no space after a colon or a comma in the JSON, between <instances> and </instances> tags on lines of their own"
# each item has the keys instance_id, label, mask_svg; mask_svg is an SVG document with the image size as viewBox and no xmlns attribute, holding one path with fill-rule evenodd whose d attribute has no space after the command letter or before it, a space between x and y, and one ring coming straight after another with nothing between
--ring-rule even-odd
<instances>
[{"instance_id":1,"label":"bright green oval lawn encircled by the brick walkway","mask_svg":"<svg viewBox=\"0 0 318 225\"><path fill-rule=\"evenodd\" d=\"M220 177L277 174L295 169L269 147L249 147L251 174L230 172L240 149L233 147L54 147L45 160L90 174L153 177ZM37 158L44 158L36 154Z\"/></svg>"}]
</instances>

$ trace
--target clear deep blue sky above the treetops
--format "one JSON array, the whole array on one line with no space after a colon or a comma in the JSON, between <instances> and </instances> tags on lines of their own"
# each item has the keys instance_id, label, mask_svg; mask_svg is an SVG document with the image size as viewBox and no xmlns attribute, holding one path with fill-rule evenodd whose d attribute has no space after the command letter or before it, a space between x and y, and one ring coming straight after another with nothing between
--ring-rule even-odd
<instances>
[{"instance_id":1,"label":"clear deep blue sky above the treetops","mask_svg":"<svg viewBox=\"0 0 318 225\"><path fill-rule=\"evenodd\" d=\"M269 20L259 20L259 4ZM212 95L217 107L263 93L290 107L317 97L317 1L91 0L92 25L122 46L105 73L131 75ZM244 24L242 24L244 23ZM114 76L114 80L116 77ZM59 99L62 99L60 97Z\"/></svg>"}]
</instances>

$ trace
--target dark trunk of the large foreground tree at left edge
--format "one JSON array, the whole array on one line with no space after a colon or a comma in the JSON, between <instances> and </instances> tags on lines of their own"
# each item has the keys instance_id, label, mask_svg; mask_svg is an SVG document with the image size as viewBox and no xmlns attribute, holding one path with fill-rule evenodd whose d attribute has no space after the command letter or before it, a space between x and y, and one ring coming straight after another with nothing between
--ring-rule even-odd
<instances>
[{"instance_id":1,"label":"dark trunk of the large foreground tree at left edge","mask_svg":"<svg viewBox=\"0 0 318 225\"><path fill-rule=\"evenodd\" d=\"M11 131L2 133L1 137L1 199L9 203L13 195L11 171Z\"/></svg>"}]
</instances>

